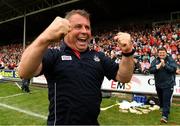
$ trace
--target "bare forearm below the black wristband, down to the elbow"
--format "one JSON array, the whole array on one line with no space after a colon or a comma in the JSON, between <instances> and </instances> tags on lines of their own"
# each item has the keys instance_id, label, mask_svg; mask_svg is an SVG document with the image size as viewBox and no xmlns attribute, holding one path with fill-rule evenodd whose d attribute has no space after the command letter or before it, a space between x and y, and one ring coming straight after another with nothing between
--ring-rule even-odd
<instances>
[{"instance_id":1,"label":"bare forearm below the black wristband, down to the elbow","mask_svg":"<svg viewBox=\"0 0 180 126\"><path fill-rule=\"evenodd\" d=\"M131 80L134 71L134 60L133 56L122 57L121 62L119 63L119 69L116 75L116 80L127 83Z\"/></svg>"}]
</instances>

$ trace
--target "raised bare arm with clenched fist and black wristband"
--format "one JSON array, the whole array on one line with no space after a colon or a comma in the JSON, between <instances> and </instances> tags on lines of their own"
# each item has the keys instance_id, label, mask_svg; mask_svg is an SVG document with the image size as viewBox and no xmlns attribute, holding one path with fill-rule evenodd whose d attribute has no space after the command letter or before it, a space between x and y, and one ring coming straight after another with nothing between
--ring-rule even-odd
<instances>
[{"instance_id":1,"label":"raised bare arm with clenched fist and black wristband","mask_svg":"<svg viewBox=\"0 0 180 126\"><path fill-rule=\"evenodd\" d=\"M122 60L119 63L116 80L127 83L131 80L134 71L133 54L135 50L133 49L131 37L128 33L119 32L117 36L115 36L115 39L118 41L122 50Z\"/></svg>"}]
</instances>

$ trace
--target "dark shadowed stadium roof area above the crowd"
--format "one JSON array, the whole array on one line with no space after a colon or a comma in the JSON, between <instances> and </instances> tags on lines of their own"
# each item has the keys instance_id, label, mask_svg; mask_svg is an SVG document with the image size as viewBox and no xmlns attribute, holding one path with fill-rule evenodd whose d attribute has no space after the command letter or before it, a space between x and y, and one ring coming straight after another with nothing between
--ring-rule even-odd
<instances>
[{"instance_id":1,"label":"dark shadowed stadium roof area above the crowd","mask_svg":"<svg viewBox=\"0 0 180 126\"><path fill-rule=\"evenodd\" d=\"M64 16L70 9L86 9L91 13L93 24L102 21L121 23L146 19L159 21L179 11L179 1L146 0L1 0L0 34L1 44L23 42L24 15L26 16L26 40L32 41L57 16ZM136 19L134 19L136 17ZM107 24L107 23L106 23ZM95 26L96 27L96 26Z\"/></svg>"}]
</instances>

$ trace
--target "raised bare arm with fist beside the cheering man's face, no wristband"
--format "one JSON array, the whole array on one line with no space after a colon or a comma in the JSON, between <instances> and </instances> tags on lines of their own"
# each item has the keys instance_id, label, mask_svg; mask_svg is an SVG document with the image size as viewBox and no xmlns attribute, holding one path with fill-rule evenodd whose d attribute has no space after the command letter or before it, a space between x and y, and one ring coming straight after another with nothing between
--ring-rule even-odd
<instances>
[{"instance_id":1,"label":"raised bare arm with fist beside the cheering man's face, no wristband","mask_svg":"<svg viewBox=\"0 0 180 126\"><path fill-rule=\"evenodd\" d=\"M21 78L32 78L42 69L42 58L52 42L59 42L60 38L70 30L69 21L56 17L55 20L43 31L31 45L23 52L18 66Z\"/></svg>"}]
</instances>

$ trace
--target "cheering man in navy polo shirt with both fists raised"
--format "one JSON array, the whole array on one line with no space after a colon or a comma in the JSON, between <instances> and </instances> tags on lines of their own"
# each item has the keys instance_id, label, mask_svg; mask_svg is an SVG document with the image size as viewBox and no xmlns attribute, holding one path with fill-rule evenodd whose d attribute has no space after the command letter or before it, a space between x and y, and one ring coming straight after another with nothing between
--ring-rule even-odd
<instances>
[{"instance_id":1,"label":"cheering man in navy polo shirt with both fists raised","mask_svg":"<svg viewBox=\"0 0 180 126\"><path fill-rule=\"evenodd\" d=\"M63 37L60 49L48 49ZM124 54L119 65L103 53L89 50L91 38L89 14L72 10L65 18L55 18L22 55L20 77L44 74L47 79L48 125L98 124L104 76L123 83L132 77L134 50L129 34L115 37Z\"/></svg>"}]
</instances>

